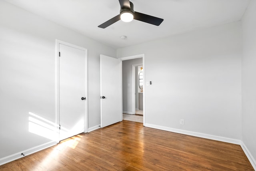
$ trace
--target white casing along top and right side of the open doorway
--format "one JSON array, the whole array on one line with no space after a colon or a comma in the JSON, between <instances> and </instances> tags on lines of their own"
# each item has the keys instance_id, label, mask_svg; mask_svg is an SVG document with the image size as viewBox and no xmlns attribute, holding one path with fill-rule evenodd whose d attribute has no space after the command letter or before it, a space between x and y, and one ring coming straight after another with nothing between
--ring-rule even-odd
<instances>
[{"instance_id":1,"label":"white casing along top and right side of the open doorway","mask_svg":"<svg viewBox=\"0 0 256 171\"><path fill-rule=\"evenodd\" d=\"M136 58L142 58L142 65L143 65L143 126L145 126L146 124L146 112L145 112L145 94L146 94L146 87L145 87L145 54L138 54L138 55L133 55L133 56L126 56L126 57L122 57L122 58L118 58L121 61L124 60L132 60L132 59L136 59ZM134 87L134 86L133 86ZM133 88L134 89L134 88ZM133 95L134 97L134 95ZM123 93L122 93L122 99L123 99ZM132 98L134 101L134 98ZM134 102L135 103L135 102ZM134 103L132 103L134 105ZM122 104L123 107L123 104Z\"/></svg>"}]
</instances>

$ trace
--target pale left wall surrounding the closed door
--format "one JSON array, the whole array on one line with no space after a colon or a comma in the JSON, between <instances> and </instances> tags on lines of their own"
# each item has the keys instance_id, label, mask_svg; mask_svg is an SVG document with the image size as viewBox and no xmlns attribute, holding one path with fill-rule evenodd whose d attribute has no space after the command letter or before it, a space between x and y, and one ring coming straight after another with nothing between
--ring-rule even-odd
<instances>
[{"instance_id":1,"label":"pale left wall surrounding the closed door","mask_svg":"<svg viewBox=\"0 0 256 171\"><path fill-rule=\"evenodd\" d=\"M116 50L0 0L0 159L51 141L29 112L55 122L55 40L88 49L89 127L100 124L100 54Z\"/></svg>"}]
</instances>

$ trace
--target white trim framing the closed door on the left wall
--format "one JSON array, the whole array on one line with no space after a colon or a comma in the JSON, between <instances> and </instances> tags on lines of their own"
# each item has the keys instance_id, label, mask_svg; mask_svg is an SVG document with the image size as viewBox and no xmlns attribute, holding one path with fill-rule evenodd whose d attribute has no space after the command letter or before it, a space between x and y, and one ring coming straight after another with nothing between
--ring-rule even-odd
<instances>
[{"instance_id":1,"label":"white trim framing the closed door on the left wall","mask_svg":"<svg viewBox=\"0 0 256 171\"><path fill-rule=\"evenodd\" d=\"M85 51L85 130L84 132L88 132L88 50L86 48L82 48L80 46L76 46L74 44L70 44L67 42L63 42L61 40L56 39L56 143L60 142L60 58L59 58L59 52L60 52L60 44L70 46L72 48L76 48L79 50Z\"/></svg>"}]
</instances>

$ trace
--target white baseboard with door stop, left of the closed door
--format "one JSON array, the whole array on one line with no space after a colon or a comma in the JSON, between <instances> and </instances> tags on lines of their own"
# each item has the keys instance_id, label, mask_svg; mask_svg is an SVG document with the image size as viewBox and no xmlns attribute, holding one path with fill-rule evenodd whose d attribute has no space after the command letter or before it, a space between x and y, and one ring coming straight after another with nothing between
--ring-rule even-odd
<instances>
[{"instance_id":1,"label":"white baseboard with door stop, left of the closed door","mask_svg":"<svg viewBox=\"0 0 256 171\"><path fill-rule=\"evenodd\" d=\"M30 149L20 151L19 153L9 155L7 157L0 159L0 165L4 165L5 163L9 163L11 161L20 159L20 158L30 155L32 153L36 153L36 152L46 149L48 147L52 147L53 145L56 145L56 144L57 144L56 141L50 141L48 143L44 143L42 145L38 145L38 146L30 148ZM23 153L25 156L21 155L21 153Z\"/></svg>"}]
</instances>

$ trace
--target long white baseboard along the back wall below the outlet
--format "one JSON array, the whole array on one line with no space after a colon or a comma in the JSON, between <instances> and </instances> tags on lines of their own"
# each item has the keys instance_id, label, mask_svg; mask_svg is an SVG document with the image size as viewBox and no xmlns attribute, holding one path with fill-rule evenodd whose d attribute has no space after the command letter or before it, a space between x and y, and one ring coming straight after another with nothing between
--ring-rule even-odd
<instances>
[{"instance_id":1,"label":"long white baseboard along the back wall below the outlet","mask_svg":"<svg viewBox=\"0 0 256 171\"><path fill-rule=\"evenodd\" d=\"M226 142L226 143L232 143L232 144L237 144L237 145L241 144L241 140L239 140L239 139L232 139L232 138L220 137L220 136L210 135L210 134L205 134L205 133L185 131L185 130L182 130L182 129L163 127L163 126L153 125L153 124L148 124L148 123L146 123L145 126L155 128L155 129L161 129L161 130L164 130L164 131L181 133L181 134L185 134L185 135L191 135L191 136L195 136L195 137L212 139L212 140L216 140L216 141L222 141L222 142Z\"/></svg>"}]
</instances>

